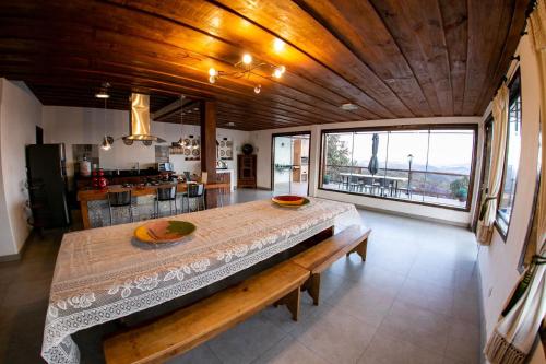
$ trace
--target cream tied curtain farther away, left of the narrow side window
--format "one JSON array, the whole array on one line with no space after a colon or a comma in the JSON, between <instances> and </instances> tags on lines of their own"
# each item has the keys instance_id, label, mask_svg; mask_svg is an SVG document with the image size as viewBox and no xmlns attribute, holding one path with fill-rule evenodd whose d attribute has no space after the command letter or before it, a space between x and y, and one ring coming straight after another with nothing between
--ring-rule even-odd
<instances>
[{"instance_id":1,"label":"cream tied curtain farther away, left of the narrow side window","mask_svg":"<svg viewBox=\"0 0 546 364\"><path fill-rule=\"evenodd\" d=\"M502 181L502 167L505 165L505 152L507 148L509 94L507 85L502 83L492 99L495 127L492 128L491 166L487 184L487 195L479 210L476 232L477 240L484 245L488 245L491 242L492 225L497 215L497 200Z\"/></svg>"}]
</instances>

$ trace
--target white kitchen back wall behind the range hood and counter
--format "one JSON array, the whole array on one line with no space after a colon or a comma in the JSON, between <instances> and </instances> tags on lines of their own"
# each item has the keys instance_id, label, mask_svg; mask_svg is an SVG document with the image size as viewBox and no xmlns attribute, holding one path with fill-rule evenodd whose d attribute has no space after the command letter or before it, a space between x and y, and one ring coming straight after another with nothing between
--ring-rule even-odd
<instances>
[{"instance_id":1,"label":"white kitchen back wall behind the range hood and counter","mask_svg":"<svg viewBox=\"0 0 546 364\"><path fill-rule=\"evenodd\" d=\"M67 169L69 175L74 174L72 158L72 144L98 144L105 132L118 139L129 133L129 111L107 110L99 108L44 106L44 133L46 143L66 143ZM167 144L178 141L180 126L169 122L154 122L151 125L152 134L167 140ZM199 126L183 126L183 134L200 136ZM217 139L229 138L234 142L234 160L226 161L229 168L237 168L237 150L248 140L248 132L232 129L217 129ZM167 145L164 144L164 145ZM140 168L153 166L155 163L155 148L145 146L140 142L124 145L121 140L116 140L109 151L99 150L100 167L105 169L131 169L136 162ZM182 155L171 155L175 171L181 173L190 171L199 173L201 162L185 161Z\"/></svg>"}]
</instances>

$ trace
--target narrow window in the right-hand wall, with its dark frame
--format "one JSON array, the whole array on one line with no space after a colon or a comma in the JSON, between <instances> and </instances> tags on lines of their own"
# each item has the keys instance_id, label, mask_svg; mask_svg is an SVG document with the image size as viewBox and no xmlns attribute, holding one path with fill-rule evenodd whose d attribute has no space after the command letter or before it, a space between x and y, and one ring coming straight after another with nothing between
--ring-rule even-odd
<instances>
[{"instance_id":1,"label":"narrow window in the right-hand wall, with its dark frame","mask_svg":"<svg viewBox=\"0 0 546 364\"><path fill-rule=\"evenodd\" d=\"M508 114L508 134L502 185L497 210L497 227L506 236L515 197L515 181L521 150L521 87L519 73L510 84L510 106Z\"/></svg>"}]
</instances>

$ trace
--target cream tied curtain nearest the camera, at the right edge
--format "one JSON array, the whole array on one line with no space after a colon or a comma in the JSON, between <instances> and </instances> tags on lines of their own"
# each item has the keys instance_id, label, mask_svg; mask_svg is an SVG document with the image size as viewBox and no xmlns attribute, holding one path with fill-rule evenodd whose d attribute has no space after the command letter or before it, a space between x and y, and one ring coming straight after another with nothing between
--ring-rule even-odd
<instances>
[{"instance_id":1,"label":"cream tied curtain nearest the camera, at the right edge","mask_svg":"<svg viewBox=\"0 0 546 364\"><path fill-rule=\"evenodd\" d=\"M546 314L546 5L538 1L531 14L531 33L541 84L541 186L536 207L536 254L513 290L485 354L492 364L519 364L529 355Z\"/></svg>"}]
</instances>

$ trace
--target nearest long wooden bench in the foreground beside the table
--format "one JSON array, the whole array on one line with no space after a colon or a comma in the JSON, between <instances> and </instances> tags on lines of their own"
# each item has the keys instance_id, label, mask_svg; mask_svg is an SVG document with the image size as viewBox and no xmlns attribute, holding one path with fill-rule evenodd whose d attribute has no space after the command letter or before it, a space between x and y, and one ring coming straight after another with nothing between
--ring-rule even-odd
<instances>
[{"instance_id":1,"label":"nearest long wooden bench in the foreground beside the table","mask_svg":"<svg viewBox=\"0 0 546 364\"><path fill-rule=\"evenodd\" d=\"M271 304L285 304L298 319L299 292L309 270L284 261L252 278L104 342L109 364L161 363L187 352Z\"/></svg>"}]
</instances>

